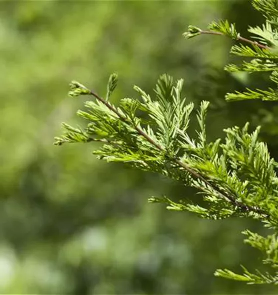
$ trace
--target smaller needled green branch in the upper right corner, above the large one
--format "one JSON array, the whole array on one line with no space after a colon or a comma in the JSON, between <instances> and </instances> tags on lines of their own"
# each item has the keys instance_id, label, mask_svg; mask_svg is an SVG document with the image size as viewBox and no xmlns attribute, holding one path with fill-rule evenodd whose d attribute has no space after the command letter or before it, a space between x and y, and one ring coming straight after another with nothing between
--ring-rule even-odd
<instances>
[{"instance_id":1,"label":"smaller needled green branch in the upper right corner, above the large one","mask_svg":"<svg viewBox=\"0 0 278 295\"><path fill-rule=\"evenodd\" d=\"M252 58L251 61L244 61L242 65L228 64L225 70L229 72L245 71L248 73L253 72L272 72L274 75L277 73L277 59L278 59L278 8L276 0L254 0L253 6L266 18L265 24L262 27L249 26L248 31L253 34L252 38L257 41L252 41L240 36L236 31L234 24L220 20L219 22L212 22L208 26L208 31L198 29L198 33L191 34L191 37L200 34L217 34L225 35L236 41L247 42L250 45L245 46L243 44L233 45L230 53L234 56L240 56L245 58ZM189 27L189 34L192 30L192 26ZM188 33L184 33L187 37ZM277 96L277 81L275 83L275 89L269 88L268 90L247 89L245 92L236 91L234 93L228 93L226 95L227 100L246 100L246 99L262 99L262 100L278 100Z\"/></svg>"}]
</instances>

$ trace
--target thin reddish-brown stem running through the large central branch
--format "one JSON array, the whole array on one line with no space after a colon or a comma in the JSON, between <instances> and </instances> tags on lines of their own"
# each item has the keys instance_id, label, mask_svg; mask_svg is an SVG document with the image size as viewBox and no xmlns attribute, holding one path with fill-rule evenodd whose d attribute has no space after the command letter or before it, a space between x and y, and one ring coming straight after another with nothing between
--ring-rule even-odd
<instances>
[{"instance_id":1,"label":"thin reddish-brown stem running through the large central branch","mask_svg":"<svg viewBox=\"0 0 278 295\"><path fill-rule=\"evenodd\" d=\"M125 123L129 123L128 119L123 116L122 114L120 114L118 112L118 110L111 105L108 101L106 101L105 99L103 99L102 97L98 96L96 93L90 91L91 95L93 95L97 100L99 100L101 103L103 103L107 108L109 108L111 111L113 111L122 122ZM165 152L165 150L163 149L162 146L160 146L157 142L155 142L148 134L146 134L143 130L141 130L139 127L134 126L135 130L141 135L143 136L149 143L151 143L152 145L154 145L158 150ZM192 168L190 168L189 166L187 166L184 162L182 162L181 160L177 159L177 158L171 158L175 163L177 163L180 167L182 167L184 170L186 170L187 172L189 172L190 174L192 174L195 178L203 181L207 186L212 187L215 191L217 191L219 193L219 195L222 198L228 199L232 204L234 204L237 207L240 207L241 209L245 210L246 212L256 212L258 214L263 214L266 217L269 217L269 215L264 212L263 210L256 208L256 207L252 207L252 206L248 206L245 204L242 204L241 202L238 202L234 196L229 195L225 192L222 192L216 185L210 183L207 179L205 179L202 175L200 175L199 173L197 173L196 171L194 171Z\"/></svg>"}]
</instances>

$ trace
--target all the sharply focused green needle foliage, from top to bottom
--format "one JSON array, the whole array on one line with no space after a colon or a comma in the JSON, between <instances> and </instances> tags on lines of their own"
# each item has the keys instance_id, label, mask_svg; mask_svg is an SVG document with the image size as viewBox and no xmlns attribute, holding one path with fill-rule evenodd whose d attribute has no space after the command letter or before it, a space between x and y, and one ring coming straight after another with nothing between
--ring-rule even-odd
<instances>
[{"instance_id":1,"label":"all the sharply focused green needle foliage, from top to bottom","mask_svg":"<svg viewBox=\"0 0 278 295\"><path fill-rule=\"evenodd\" d=\"M270 79L278 84L275 62L278 59L275 48L278 41L277 4L274 0L255 0L253 5L267 18L262 28L249 28L258 42L241 37L235 25L228 21L212 22L208 26L209 31L189 26L184 37L189 39L201 34L216 34L247 42L250 46L233 45L231 54L253 59L243 61L241 67L229 64L225 69L248 73L270 71ZM194 105L186 104L182 94L183 80L174 82L171 76L162 75L153 97L135 86L140 99L124 98L119 106L109 101L116 84L117 75L113 74L104 99L82 84L72 82L70 96L92 95L96 101L85 102L87 111L77 112L87 121L87 126L74 128L64 123L65 133L55 138L55 144L102 142L102 147L93 151L99 159L160 173L196 189L202 195L202 202L188 199L176 202L168 197L151 197L151 203L166 203L170 210L194 212L206 219L249 217L275 232L278 230L278 177L275 171L278 163L271 158L267 144L259 141L259 127L253 132L248 131L248 123L243 128L227 128L224 129L224 140L208 142L206 115L209 102L201 102L194 117L198 130L192 135L189 127ZM278 96L276 89L272 88L247 89L245 92L227 93L226 99L277 100ZM248 236L246 243L266 255L263 263L274 269L271 269L273 274L259 270L251 273L242 266L242 275L227 269L218 269L215 275L249 284L276 284L276 235L264 238L249 230L244 234Z\"/></svg>"}]
</instances>

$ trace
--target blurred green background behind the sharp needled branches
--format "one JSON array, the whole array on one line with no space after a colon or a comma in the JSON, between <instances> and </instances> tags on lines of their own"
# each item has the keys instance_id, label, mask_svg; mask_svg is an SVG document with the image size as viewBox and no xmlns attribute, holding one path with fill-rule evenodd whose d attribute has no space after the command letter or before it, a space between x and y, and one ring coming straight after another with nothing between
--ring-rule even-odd
<instances>
[{"instance_id":1,"label":"blurred green background behind the sharp needled branches","mask_svg":"<svg viewBox=\"0 0 278 295\"><path fill-rule=\"evenodd\" d=\"M52 145L60 123L81 124L83 98L67 97L72 79L103 95L118 72L113 102L152 92L160 74L184 78L196 105L211 101L211 139L235 124L262 125L277 156L275 103L227 103L226 91L265 87L265 75L230 75L231 41L184 40L189 24L262 23L250 1L0 2L0 293L276 294L215 278L216 268L260 267L241 231L251 220L210 221L148 204L151 195L199 196L159 175L96 160L91 144Z\"/></svg>"}]
</instances>

